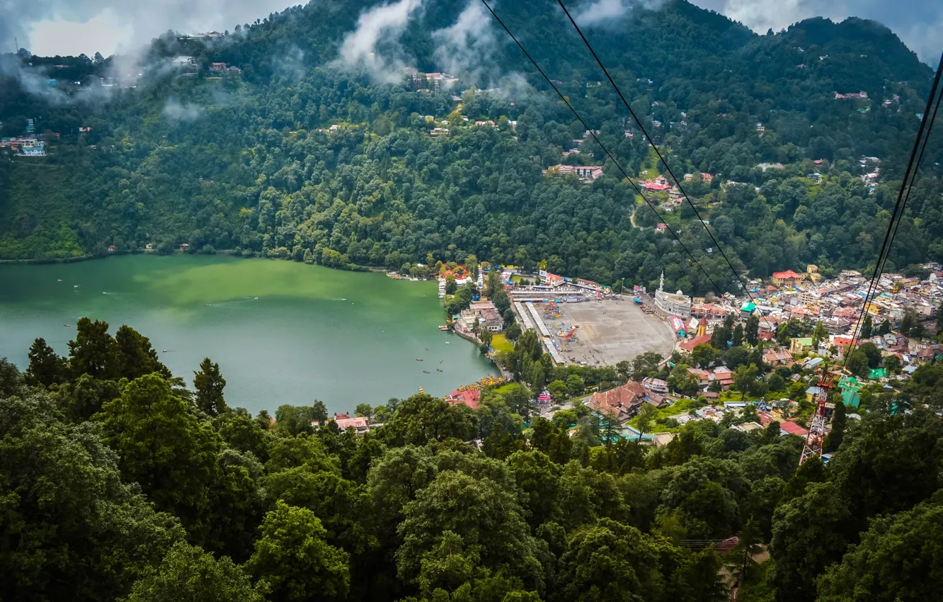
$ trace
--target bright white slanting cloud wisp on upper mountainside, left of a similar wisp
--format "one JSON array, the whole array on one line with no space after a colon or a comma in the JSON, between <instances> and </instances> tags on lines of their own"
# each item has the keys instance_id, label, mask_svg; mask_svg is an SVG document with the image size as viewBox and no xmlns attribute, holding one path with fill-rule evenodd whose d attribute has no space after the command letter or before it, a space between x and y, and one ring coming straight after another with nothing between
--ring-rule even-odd
<instances>
[{"instance_id":1,"label":"bright white slanting cloud wisp on upper mountainside, left of a similar wisp","mask_svg":"<svg viewBox=\"0 0 943 602\"><path fill-rule=\"evenodd\" d=\"M400 0L363 12L356 29L344 36L335 64L346 69L366 69L377 82L401 81L405 62L399 40L409 18L419 8L422 0Z\"/></svg>"}]
</instances>

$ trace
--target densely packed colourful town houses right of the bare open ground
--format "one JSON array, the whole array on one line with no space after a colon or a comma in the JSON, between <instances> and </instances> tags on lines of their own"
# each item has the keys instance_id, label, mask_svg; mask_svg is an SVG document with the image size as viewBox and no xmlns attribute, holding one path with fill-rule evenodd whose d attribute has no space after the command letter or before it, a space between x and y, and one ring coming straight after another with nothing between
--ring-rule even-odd
<instances>
[{"instance_id":1,"label":"densely packed colourful town houses right of the bare open ground","mask_svg":"<svg viewBox=\"0 0 943 602\"><path fill-rule=\"evenodd\" d=\"M794 416L799 404L811 403L819 394L823 368L835 375L836 390L845 404L857 409L863 387L890 390L921 364L943 359L943 345L930 338L937 330L936 314L943 299L943 266L921 267L920 276L881 276L870 294L868 277L844 271L823 279L815 265L806 266L804 272L784 270L766 281L750 281L752 301L729 294L707 299L668 293L663 280L653 295L637 288L643 309L665 320L676 334L675 352L659 364L662 375L671 377L630 380L587 397L587 407L627 424L645 405L663 409L685 398L703 398L711 407L684 414L680 420L721 421L727 414L741 414L741 396L752 389L749 382L737 380L748 366L761 362L768 375L785 379L785 389L769 389L767 401L762 394L753 395L754 402L759 399L761 424L776 420L784 433L802 436L805 430ZM748 342L751 328L753 341ZM849 362L842 369L850 350L860 350L866 343L875 358L858 368ZM735 364L727 352L740 345L744 357ZM676 369L682 371L680 376ZM763 380L756 375L748 378Z\"/></svg>"}]
</instances>

